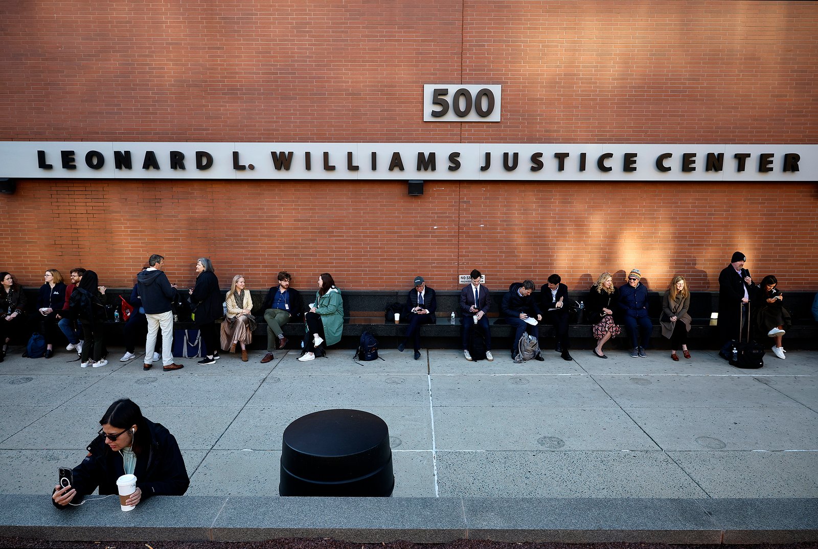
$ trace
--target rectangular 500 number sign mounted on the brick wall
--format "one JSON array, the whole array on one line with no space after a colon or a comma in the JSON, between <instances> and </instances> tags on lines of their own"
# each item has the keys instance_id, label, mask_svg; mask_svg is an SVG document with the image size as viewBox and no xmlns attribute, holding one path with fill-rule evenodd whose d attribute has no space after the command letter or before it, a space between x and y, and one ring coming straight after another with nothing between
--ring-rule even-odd
<instances>
[{"instance_id":1,"label":"rectangular 500 number sign mounted on the brick wall","mask_svg":"<svg viewBox=\"0 0 818 549\"><path fill-rule=\"evenodd\" d=\"M425 122L500 122L501 86L425 84Z\"/></svg>"}]
</instances>

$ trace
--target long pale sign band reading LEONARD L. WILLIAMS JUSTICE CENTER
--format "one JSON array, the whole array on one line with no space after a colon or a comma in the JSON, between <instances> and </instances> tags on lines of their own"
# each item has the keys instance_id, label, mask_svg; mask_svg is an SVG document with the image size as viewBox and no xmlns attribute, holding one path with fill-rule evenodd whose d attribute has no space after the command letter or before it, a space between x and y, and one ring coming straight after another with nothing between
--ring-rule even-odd
<instances>
[{"instance_id":1,"label":"long pale sign band reading LEONARD L. WILLIAMS JUSTICE CENTER","mask_svg":"<svg viewBox=\"0 0 818 549\"><path fill-rule=\"evenodd\" d=\"M818 145L0 142L0 178L818 180Z\"/></svg>"}]
</instances>

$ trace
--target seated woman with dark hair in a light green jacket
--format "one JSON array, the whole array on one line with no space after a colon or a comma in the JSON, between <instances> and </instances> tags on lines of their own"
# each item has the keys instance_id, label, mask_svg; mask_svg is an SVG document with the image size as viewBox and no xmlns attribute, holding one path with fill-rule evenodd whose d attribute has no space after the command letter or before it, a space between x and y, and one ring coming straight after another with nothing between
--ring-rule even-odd
<instances>
[{"instance_id":1,"label":"seated woman with dark hair in a light green jacket","mask_svg":"<svg viewBox=\"0 0 818 549\"><path fill-rule=\"evenodd\" d=\"M318 277L315 303L310 304L308 313L304 314L304 321L307 323L307 334L304 335L304 349L299 357L301 362L314 360L316 355L324 356L326 346L341 340L341 331L344 330L344 302L329 272Z\"/></svg>"}]
</instances>

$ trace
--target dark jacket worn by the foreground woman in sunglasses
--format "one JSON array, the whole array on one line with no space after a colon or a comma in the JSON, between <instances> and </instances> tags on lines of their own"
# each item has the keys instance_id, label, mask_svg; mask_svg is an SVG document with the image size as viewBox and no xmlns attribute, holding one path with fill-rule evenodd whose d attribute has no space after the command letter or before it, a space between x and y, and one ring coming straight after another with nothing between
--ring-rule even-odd
<instances>
[{"instance_id":1,"label":"dark jacket worn by the foreground woman in sunglasses","mask_svg":"<svg viewBox=\"0 0 818 549\"><path fill-rule=\"evenodd\" d=\"M146 452L137 455L137 488L142 490L142 501L151 496L181 496L191 484L187 476L182 452L173 434L160 423L145 420L151 440ZM74 467L74 484L77 491L72 503L77 503L97 488L100 495L118 493L116 479L125 474L122 456L113 452L100 435L88 444L88 456ZM52 500L53 502L53 500ZM64 508L54 502L54 506Z\"/></svg>"}]
</instances>

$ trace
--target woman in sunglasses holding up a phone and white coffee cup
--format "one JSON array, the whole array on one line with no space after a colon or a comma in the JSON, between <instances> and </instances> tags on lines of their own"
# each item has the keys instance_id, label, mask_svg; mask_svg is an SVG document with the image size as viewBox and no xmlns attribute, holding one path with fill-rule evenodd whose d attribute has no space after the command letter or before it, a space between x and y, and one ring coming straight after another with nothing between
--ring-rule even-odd
<instances>
[{"instance_id":1,"label":"woman in sunglasses holding up a phone and white coffee cup","mask_svg":"<svg viewBox=\"0 0 818 549\"><path fill-rule=\"evenodd\" d=\"M88 444L88 456L71 470L70 477L61 474L62 485L52 492L54 506L81 505L83 497L97 487L102 496L118 493L116 479L122 475L137 477L137 490L124 505L187 492L191 480L176 439L163 425L142 416L136 403L129 398L117 400L100 425L97 438Z\"/></svg>"}]
</instances>

